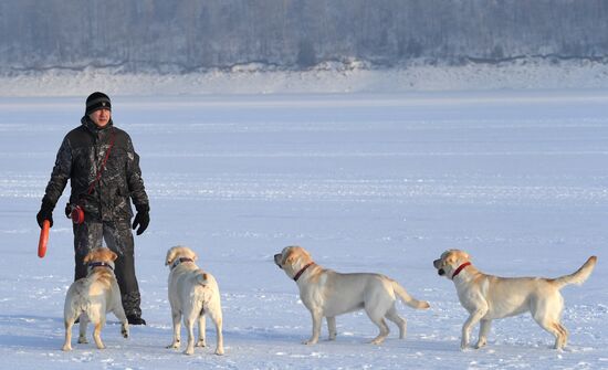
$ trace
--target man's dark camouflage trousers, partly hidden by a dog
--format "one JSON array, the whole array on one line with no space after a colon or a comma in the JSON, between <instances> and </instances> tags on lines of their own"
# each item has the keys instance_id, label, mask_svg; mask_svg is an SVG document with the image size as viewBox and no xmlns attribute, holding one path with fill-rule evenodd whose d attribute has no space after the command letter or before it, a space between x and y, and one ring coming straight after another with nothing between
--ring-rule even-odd
<instances>
[{"instance_id":1,"label":"man's dark camouflage trousers, partly hidden by a dog","mask_svg":"<svg viewBox=\"0 0 608 370\"><path fill-rule=\"evenodd\" d=\"M74 224L74 281L85 277L87 266L84 257L88 251L101 247L105 241L106 246L118 255L114 261L114 274L120 288L123 308L127 316L141 316L141 296L135 276L134 241L129 220L118 221L91 221Z\"/></svg>"}]
</instances>

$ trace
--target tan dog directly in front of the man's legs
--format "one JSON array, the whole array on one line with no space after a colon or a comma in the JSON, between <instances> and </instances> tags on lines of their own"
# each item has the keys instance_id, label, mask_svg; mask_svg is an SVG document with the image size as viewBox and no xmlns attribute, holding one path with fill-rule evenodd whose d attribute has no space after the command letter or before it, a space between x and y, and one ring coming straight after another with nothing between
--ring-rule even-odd
<instances>
[{"instance_id":1,"label":"tan dog directly in front of the man's legs","mask_svg":"<svg viewBox=\"0 0 608 370\"><path fill-rule=\"evenodd\" d=\"M128 338L128 321L120 300L120 289L114 276L116 253L106 247L94 249L84 263L88 264L88 274L72 283L65 296L63 319L65 325L64 351L72 350L72 326L80 317L78 343L86 343L86 326L93 323L95 330L93 339L98 349L105 348L102 342L102 328L105 325L106 313L114 313L120 320L120 332Z\"/></svg>"}]
</instances>

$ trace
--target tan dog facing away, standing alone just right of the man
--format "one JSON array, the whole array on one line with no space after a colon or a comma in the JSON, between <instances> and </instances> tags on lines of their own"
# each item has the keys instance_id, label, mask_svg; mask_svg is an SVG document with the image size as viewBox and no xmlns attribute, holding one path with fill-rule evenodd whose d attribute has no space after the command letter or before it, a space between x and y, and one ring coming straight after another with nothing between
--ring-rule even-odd
<instances>
[{"instance_id":1,"label":"tan dog facing away, standing alone just right of the man","mask_svg":"<svg viewBox=\"0 0 608 370\"><path fill-rule=\"evenodd\" d=\"M205 347L205 314L209 314L216 325L216 355L223 355L222 308L220 288L211 274L196 264L197 254L186 246L174 246L167 252L165 265L169 266L169 303L174 319L174 341L167 348L179 348L180 320L188 329L186 355L195 353L195 321L199 324L197 347Z\"/></svg>"}]
</instances>

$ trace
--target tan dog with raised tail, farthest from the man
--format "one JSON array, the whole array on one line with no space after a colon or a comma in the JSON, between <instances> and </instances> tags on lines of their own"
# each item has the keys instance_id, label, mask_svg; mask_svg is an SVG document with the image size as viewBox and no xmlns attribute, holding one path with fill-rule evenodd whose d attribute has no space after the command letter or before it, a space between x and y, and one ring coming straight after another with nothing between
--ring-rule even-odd
<instances>
[{"instance_id":1,"label":"tan dog with raised tail, farthest from the man","mask_svg":"<svg viewBox=\"0 0 608 370\"><path fill-rule=\"evenodd\" d=\"M470 314L462 326L461 349L468 347L471 329L478 323L481 321L475 348L481 348L486 343L493 319L526 311L555 336L555 349L560 349L566 346L568 331L560 323L564 298L559 289L568 284L583 284L596 262L597 257L591 256L577 272L558 278L504 278L483 274L471 265L469 254L451 250L441 254L433 266L439 275L454 282L460 303Z\"/></svg>"}]
</instances>

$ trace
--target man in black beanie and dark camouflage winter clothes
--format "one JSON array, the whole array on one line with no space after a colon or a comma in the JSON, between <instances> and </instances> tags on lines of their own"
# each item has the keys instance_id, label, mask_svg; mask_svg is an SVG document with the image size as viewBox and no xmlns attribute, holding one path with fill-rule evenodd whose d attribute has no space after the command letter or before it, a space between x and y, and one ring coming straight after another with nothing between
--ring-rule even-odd
<instances>
[{"instance_id":1,"label":"man in black beanie and dark camouflage winter clothes","mask_svg":"<svg viewBox=\"0 0 608 370\"><path fill-rule=\"evenodd\" d=\"M71 130L59 149L51 180L46 186L36 221L53 226L53 209L70 180L72 192L65 214L72 218L74 231L75 276L86 276L83 260L92 249L107 247L118 258L115 275L120 287L123 307L132 325L146 325L141 318L140 295L135 276L133 229L140 235L150 221L148 195L144 188L139 156L127 133L112 123L112 104L103 93L86 98L81 126Z\"/></svg>"}]
</instances>

